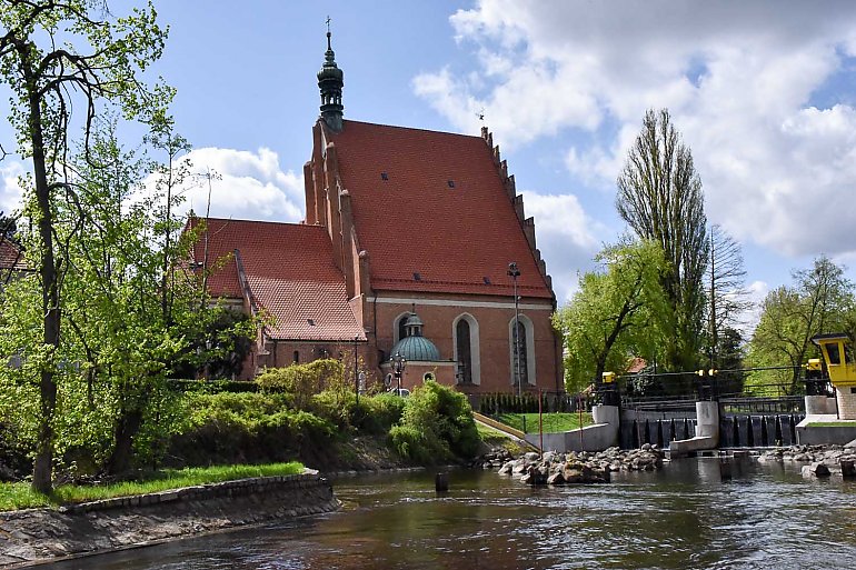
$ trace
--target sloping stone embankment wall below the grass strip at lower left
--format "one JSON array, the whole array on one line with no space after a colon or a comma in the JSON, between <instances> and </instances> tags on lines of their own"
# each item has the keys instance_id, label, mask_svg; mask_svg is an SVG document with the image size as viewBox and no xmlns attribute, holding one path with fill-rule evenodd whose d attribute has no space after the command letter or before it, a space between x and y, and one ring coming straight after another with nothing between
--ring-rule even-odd
<instances>
[{"instance_id":1,"label":"sloping stone embankment wall below the grass strip at lower left","mask_svg":"<svg viewBox=\"0 0 856 570\"><path fill-rule=\"evenodd\" d=\"M59 509L0 512L0 568L109 551L340 507L316 471L188 487Z\"/></svg>"}]
</instances>

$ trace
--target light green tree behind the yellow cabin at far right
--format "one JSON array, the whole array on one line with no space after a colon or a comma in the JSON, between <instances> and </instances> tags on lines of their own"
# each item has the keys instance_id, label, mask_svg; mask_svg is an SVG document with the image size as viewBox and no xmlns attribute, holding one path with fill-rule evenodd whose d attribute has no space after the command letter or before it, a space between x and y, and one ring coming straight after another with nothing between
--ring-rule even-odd
<instances>
[{"instance_id":1,"label":"light green tree behind the yellow cabin at far right","mask_svg":"<svg viewBox=\"0 0 856 570\"><path fill-rule=\"evenodd\" d=\"M754 372L755 391L795 394L802 391L802 366L817 356L812 337L847 330L854 309L854 283L829 258L815 259L812 269L795 271L794 284L770 291L749 344L754 367L787 367Z\"/></svg>"}]
</instances>

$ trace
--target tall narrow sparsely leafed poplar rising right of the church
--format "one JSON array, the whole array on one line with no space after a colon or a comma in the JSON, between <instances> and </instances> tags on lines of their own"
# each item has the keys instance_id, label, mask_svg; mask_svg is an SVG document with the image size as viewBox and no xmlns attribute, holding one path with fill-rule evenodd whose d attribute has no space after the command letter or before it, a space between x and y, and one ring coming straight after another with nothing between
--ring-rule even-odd
<instances>
[{"instance_id":1,"label":"tall narrow sparsely leafed poplar rising right of the church","mask_svg":"<svg viewBox=\"0 0 856 570\"><path fill-rule=\"evenodd\" d=\"M674 331L664 353L671 371L694 370L704 338L708 259L701 179L666 109L648 110L618 177L618 213L664 251L660 284L668 300L664 329Z\"/></svg>"}]
</instances>

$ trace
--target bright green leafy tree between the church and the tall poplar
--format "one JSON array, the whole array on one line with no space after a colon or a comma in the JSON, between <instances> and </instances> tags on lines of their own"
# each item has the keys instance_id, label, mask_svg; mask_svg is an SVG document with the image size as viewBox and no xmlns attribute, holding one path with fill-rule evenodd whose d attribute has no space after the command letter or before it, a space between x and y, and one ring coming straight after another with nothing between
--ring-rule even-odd
<instances>
[{"instance_id":1,"label":"bright green leafy tree between the church and the tall poplar","mask_svg":"<svg viewBox=\"0 0 856 570\"><path fill-rule=\"evenodd\" d=\"M579 290L556 314L565 339L565 384L571 392L624 372L634 356L655 357L657 314L665 310L663 250L653 241L605 248L603 268L583 274Z\"/></svg>"}]
</instances>

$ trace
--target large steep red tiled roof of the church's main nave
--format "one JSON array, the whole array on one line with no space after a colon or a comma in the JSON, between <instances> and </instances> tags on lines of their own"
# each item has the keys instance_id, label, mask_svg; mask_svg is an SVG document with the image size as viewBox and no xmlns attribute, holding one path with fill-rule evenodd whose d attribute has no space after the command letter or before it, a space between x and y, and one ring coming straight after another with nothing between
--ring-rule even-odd
<instances>
[{"instance_id":1,"label":"large steep red tiled roof of the church's main nave","mask_svg":"<svg viewBox=\"0 0 856 570\"><path fill-rule=\"evenodd\" d=\"M480 137L344 121L327 131L351 196L371 286L380 290L551 298Z\"/></svg>"}]
</instances>

